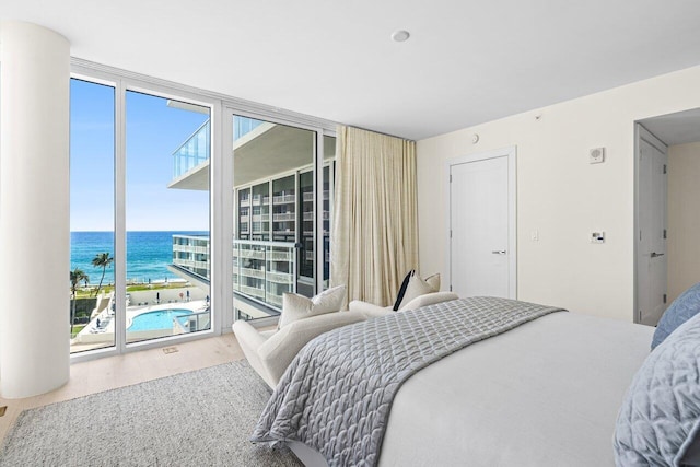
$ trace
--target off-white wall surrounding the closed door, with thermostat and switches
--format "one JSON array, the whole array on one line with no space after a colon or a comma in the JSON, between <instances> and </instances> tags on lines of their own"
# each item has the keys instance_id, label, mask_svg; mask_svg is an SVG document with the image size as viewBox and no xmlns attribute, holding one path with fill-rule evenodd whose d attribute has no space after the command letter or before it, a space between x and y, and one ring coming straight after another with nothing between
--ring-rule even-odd
<instances>
[{"instance_id":1,"label":"off-white wall surrounding the closed door, with thermostat and switches","mask_svg":"<svg viewBox=\"0 0 700 467\"><path fill-rule=\"evenodd\" d=\"M700 107L698 83L693 67L419 141L421 272L448 275L446 161L516 145L518 299L632 320L634 121Z\"/></svg>"}]
</instances>

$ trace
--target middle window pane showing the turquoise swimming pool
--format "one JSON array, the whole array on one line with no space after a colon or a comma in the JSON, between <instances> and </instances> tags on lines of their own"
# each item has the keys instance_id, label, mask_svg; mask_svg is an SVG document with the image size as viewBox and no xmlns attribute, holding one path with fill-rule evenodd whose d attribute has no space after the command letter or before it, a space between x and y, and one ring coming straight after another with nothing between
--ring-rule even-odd
<instances>
[{"instance_id":1,"label":"middle window pane showing the turquoise swimming pool","mask_svg":"<svg viewBox=\"0 0 700 467\"><path fill-rule=\"evenodd\" d=\"M211 328L209 121L208 107L126 93L127 342Z\"/></svg>"}]
</instances>

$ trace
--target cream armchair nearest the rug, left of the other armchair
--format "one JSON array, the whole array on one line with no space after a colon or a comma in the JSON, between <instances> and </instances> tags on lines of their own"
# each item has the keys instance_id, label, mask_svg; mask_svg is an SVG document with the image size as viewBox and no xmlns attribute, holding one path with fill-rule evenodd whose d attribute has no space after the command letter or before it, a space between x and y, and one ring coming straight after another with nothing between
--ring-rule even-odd
<instances>
[{"instance_id":1,"label":"cream armchair nearest the rug, left of the other armchair","mask_svg":"<svg viewBox=\"0 0 700 467\"><path fill-rule=\"evenodd\" d=\"M233 332L250 366L275 388L284 370L310 340L337 327L365 319L360 312L334 312L298 319L280 330L267 331L258 331L250 323L237 320L233 324Z\"/></svg>"}]
</instances>

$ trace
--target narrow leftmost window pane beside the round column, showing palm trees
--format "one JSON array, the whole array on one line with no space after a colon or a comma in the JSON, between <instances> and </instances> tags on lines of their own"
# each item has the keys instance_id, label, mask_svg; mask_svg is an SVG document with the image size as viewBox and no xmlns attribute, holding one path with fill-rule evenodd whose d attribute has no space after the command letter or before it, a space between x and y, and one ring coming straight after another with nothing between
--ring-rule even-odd
<instances>
[{"instance_id":1,"label":"narrow leftmost window pane beside the round column, showing palm trees","mask_svg":"<svg viewBox=\"0 0 700 467\"><path fill-rule=\"evenodd\" d=\"M115 89L70 82L71 352L113 347ZM39 266L39 265L37 265ZM68 271L66 272L68 276ZM47 302L46 306L51 306Z\"/></svg>"}]
</instances>

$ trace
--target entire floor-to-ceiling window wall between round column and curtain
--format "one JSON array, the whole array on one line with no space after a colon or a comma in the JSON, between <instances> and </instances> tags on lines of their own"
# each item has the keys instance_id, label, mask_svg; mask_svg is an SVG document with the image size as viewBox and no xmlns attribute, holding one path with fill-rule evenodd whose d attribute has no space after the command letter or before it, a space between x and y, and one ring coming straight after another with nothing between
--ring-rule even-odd
<instances>
[{"instance_id":1,"label":"entire floor-to-ceiling window wall between round column and curtain","mask_svg":"<svg viewBox=\"0 0 700 467\"><path fill-rule=\"evenodd\" d=\"M277 316L284 292L327 287L329 125L272 121L260 116L280 113L264 106L235 115L225 96L78 68L68 311L78 359L219 334Z\"/></svg>"}]
</instances>

